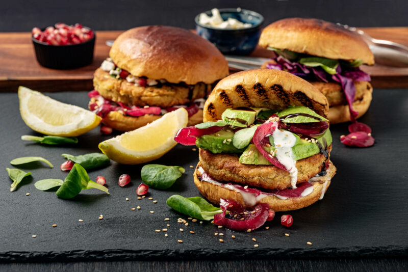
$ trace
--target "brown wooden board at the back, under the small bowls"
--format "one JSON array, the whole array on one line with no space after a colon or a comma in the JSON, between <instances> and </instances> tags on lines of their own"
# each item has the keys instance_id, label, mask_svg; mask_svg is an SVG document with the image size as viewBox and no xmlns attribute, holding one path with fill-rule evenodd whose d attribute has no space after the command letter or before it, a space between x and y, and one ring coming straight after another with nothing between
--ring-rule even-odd
<instances>
[{"instance_id":1,"label":"brown wooden board at the back, under the small bowls","mask_svg":"<svg viewBox=\"0 0 408 272\"><path fill-rule=\"evenodd\" d=\"M408 46L408 27L362 28L377 39L395 41ZM38 64L31 33L0 33L0 92L15 92L19 85L38 91L92 90L93 72L108 56L110 47L122 31L98 31L94 61L91 65L73 70L54 70ZM257 48L252 56L269 57L270 52ZM408 68L374 65L364 67L372 77L374 88L408 88Z\"/></svg>"}]
</instances>

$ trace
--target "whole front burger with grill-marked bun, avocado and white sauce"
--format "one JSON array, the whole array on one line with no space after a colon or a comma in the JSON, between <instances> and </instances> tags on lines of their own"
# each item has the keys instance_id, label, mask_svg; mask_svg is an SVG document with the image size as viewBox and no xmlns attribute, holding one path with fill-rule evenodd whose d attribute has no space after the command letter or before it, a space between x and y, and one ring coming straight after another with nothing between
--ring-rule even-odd
<instances>
[{"instance_id":1,"label":"whole front burger with grill-marked bun, avocado and white sauce","mask_svg":"<svg viewBox=\"0 0 408 272\"><path fill-rule=\"evenodd\" d=\"M199 148L194 183L209 201L300 209L322 199L336 167L326 97L285 71L242 71L219 81L203 123L175 141Z\"/></svg>"}]
</instances>

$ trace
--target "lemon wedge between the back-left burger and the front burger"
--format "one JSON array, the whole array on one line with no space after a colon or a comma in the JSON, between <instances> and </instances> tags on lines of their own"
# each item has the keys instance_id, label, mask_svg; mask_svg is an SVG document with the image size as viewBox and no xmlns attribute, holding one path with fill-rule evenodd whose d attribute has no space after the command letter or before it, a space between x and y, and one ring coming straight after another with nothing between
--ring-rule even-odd
<instances>
[{"instance_id":1,"label":"lemon wedge between the back-left burger and the front burger","mask_svg":"<svg viewBox=\"0 0 408 272\"><path fill-rule=\"evenodd\" d=\"M177 130L185 127L187 122L188 113L181 107L148 125L101 142L98 147L120 164L143 164L170 151L177 144L174 141Z\"/></svg>"}]
</instances>

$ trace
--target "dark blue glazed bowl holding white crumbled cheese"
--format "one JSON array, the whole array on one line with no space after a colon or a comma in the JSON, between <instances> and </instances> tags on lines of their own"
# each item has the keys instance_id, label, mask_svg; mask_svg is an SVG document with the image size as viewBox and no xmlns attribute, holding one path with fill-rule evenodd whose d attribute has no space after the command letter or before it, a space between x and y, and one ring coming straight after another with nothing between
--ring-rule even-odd
<instances>
[{"instance_id":1,"label":"dark blue glazed bowl holding white crumbled cheese","mask_svg":"<svg viewBox=\"0 0 408 272\"><path fill-rule=\"evenodd\" d=\"M195 16L195 30L202 38L212 42L224 55L249 55L258 45L264 17L254 11L244 9L219 9L223 20L235 18L244 23L251 23L251 28L231 30L215 29L202 25ZM211 11L204 12L211 16Z\"/></svg>"}]
</instances>

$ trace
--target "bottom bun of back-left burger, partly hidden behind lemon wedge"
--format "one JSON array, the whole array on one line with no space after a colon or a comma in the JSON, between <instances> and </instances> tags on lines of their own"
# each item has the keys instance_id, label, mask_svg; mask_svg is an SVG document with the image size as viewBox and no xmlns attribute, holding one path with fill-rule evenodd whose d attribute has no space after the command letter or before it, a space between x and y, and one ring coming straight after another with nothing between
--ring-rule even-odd
<instances>
[{"instance_id":1,"label":"bottom bun of back-left burger, partly hidden behind lemon wedge","mask_svg":"<svg viewBox=\"0 0 408 272\"><path fill-rule=\"evenodd\" d=\"M110 112L102 121L105 125L112 127L113 129L119 131L131 131L139 127L145 126L159 118L161 115L143 115L139 117L124 116L119 112ZM196 125L202 123L202 110L188 119L188 126Z\"/></svg>"}]
</instances>

